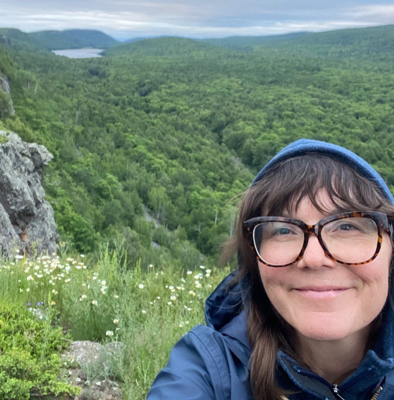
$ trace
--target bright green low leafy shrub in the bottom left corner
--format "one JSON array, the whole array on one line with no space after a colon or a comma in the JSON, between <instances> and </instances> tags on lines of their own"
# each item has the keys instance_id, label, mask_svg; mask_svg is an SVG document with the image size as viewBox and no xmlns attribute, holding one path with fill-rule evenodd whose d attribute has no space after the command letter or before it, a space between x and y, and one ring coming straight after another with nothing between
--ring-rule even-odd
<instances>
[{"instance_id":1,"label":"bright green low leafy shrub in the bottom left corner","mask_svg":"<svg viewBox=\"0 0 394 400\"><path fill-rule=\"evenodd\" d=\"M69 346L61 328L37 320L33 309L0 304L0 397L78 394L78 388L59 379L60 353Z\"/></svg>"}]
</instances>

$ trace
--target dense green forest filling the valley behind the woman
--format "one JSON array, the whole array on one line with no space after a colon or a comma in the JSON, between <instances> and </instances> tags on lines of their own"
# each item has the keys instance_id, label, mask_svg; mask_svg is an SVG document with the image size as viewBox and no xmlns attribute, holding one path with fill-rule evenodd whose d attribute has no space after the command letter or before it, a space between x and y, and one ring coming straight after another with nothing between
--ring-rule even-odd
<instances>
[{"instance_id":1,"label":"dense green forest filling the valley behind the woman","mask_svg":"<svg viewBox=\"0 0 394 400\"><path fill-rule=\"evenodd\" d=\"M49 51L82 43L75 32L68 42L11 33L0 30L0 70L16 113L0 92L0 129L54 155L43 183L70 251L107 243L142 268L213 266L240 194L303 137L353 150L394 189L394 26L124 44L99 35L106 50L92 59Z\"/></svg>"}]
</instances>

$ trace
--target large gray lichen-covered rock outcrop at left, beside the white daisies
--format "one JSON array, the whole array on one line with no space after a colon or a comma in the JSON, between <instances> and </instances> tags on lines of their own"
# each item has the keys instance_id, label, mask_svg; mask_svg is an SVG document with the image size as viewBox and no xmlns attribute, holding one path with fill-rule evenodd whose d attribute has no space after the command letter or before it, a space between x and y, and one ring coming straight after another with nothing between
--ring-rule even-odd
<instances>
[{"instance_id":1,"label":"large gray lichen-covered rock outcrop at left, beside the white daisies","mask_svg":"<svg viewBox=\"0 0 394 400\"><path fill-rule=\"evenodd\" d=\"M53 156L36 143L0 131L0 247L11 256L56 252L54 212L44 200L41 175ZM8 142L6 142L8 140Z\"/></svg>"}]
</instances>

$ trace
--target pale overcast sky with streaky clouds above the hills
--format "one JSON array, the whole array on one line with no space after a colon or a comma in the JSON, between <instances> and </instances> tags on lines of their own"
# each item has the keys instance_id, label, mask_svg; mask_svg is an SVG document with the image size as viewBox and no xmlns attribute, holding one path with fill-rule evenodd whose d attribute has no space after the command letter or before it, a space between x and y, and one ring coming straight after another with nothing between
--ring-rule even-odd
<instances>
[{"instance_id":1,"label":"pale overcast sky with streaky clouds above the hills","mask_svg":"<svg viewBox=\"0 0 394 400\"><path fill-rule=\"evenodd\" d=\"M394 1L0 0L0 26L98 29L117 38L225 37L394 24Z\"/></svg>"}]
</instances>

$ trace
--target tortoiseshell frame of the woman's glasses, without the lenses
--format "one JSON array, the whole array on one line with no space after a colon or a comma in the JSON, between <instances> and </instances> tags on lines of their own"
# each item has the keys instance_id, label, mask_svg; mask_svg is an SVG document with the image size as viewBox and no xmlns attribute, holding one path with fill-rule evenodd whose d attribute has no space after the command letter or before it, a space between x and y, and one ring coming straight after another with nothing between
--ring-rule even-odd
<instances>
[{"instance_id":1,"label":"tortoiseshell frame of the woman's glasses, without the lenses","mask_svg":"<svg viewBox=\"0 0 394 400\"><path fill-rule=\"evenodd\" d=\"M344 218L370 218L373 220L376 224L376 227L378 229L378 240L376 244L376 249L374 252L374 255L369 258L366 261L363 262L344 262L338 260L336 257L334 257L327 249L326 244L324 243L324 240L322 238L322 229L325 225L332 221L336 220L341 220ZM300 250L300 253L298 254L298 257L287 264L284 265L274 265L274 264L268 264L266 261L264 261L257 248L256 248L256 243L254 241L254 230L256 226L259 224L262 224L264 222L288 222L290 224L296 225L299 228L301 228L302 232L304 232L304 243L302 244L302 248ZM304 256L304 252L306 250L306 246L308 246L308 241L309 241L309 236L311 234L316 235L318 238L319 244L322 247L324 254L330 258L331 260L334 260L335 262L338 262L339 264L343 265L348 265L348 266L356 266L356 265L364 265L368 264L369 262L373 261L379 254L380 249L382 247L382 242L383 242L383 233L387 231L389 234L391 232L391 226L388 222L388 217L387 214L384 214L383 212L378 212L378 211L352 211L352 212L344 212L341 214L335 214L328 216L326 218L322 218L319 222L317 222L314 225L308 225L303 221L296 220L294 218L287 218L287 217L274 217L274 216L268 216L268 217L255 217L251 218L249 220L244 221L243 223L243 228L244 228L244 233L247 235L248 241L250 242L250 245L252 247L252 251L254 252L256 258L258 261L262 262L264 265L268 267L274 267L274 268L282 268L282 267L287 267L289 265L292 265L298 261L301 260L302 256Z\"/></svg>"}]
</instances>

